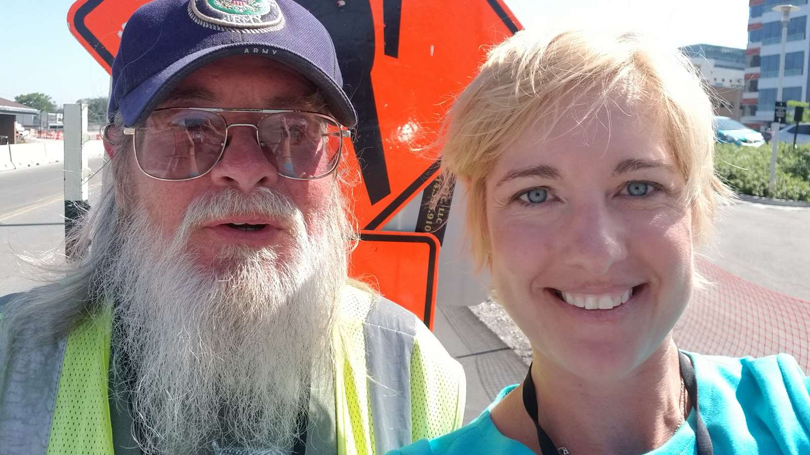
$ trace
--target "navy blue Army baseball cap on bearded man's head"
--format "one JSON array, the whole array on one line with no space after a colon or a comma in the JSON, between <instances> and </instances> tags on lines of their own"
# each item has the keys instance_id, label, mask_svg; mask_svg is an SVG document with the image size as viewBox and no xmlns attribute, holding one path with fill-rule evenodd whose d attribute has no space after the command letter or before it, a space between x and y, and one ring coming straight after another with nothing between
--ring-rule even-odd
<instances>
[{"instance_id":1,"label":"navy blue Army baseball cap on bearded man's head","mask_svg":"<svg viewBox=\"0 0 810 455\"><path fill-rule=\"evenodd\" d=\"M289 66L318 87L337 121L356 125L329 32L292 0L155 0L141 6L127 21L113 62L108 116L118 111L125 126L134 126L192 71L242 54Z\"/></svg>"}]
</instances>

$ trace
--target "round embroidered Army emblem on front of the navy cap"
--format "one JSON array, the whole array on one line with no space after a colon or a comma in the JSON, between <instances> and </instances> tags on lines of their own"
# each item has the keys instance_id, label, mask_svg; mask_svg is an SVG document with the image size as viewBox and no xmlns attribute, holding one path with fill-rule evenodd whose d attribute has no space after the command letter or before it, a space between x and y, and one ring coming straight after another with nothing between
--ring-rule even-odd
<instances>
[{"instance_id":1,"label":"round embroidered Army emblem on front of the navy cap","mask_svg":"<svg viewBox=\"0 0 810 455\"><path fill-rule=\"evenodd\" d=\"M191 0L189 13L194 22L208 28L267 32L284 26L275 0Z\"/></svg>"}]
</instances>

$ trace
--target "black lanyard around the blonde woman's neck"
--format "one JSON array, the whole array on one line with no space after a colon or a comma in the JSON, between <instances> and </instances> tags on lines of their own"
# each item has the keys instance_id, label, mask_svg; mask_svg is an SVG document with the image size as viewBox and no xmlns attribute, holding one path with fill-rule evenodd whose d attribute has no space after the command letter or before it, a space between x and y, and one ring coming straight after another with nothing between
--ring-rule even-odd
<instances>
[{"instance_id":1,"label":"black lanyard around the blonde woman's neck","mask_svg":"<svg viewBox=\"0 0 810 455\"><path fill-rule=\"evenodd\" d=\"M689 357L683 352L680 352L680 376L684 379L684 387L686 392L689 393L689 400L695 406L695 440L697 444L697 455L713 455L714 449L711 444L711 437L709 430L706 429L706 423L701 418L701 411L697 407L697 381L695 380L695 368ZM552 438L540 427L537 419L537 395L535 394L535 383L531 380L531 366L526 375L526 381L523 381L523 406L526 407L526 412L531 417L537 428L537 440L540 444L540 449L543 455L563 455L568 451L558 451L556 444Z\"/></svg>"}]
</instances>

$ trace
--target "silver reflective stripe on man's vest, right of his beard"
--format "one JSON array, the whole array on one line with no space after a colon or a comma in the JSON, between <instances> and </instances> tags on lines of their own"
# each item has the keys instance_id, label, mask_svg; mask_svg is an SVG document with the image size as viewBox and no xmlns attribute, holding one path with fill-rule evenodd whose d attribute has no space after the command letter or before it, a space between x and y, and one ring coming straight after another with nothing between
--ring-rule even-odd
<instances>
[{"instance_id":1,"label":"silver reflective stripe on man's vest, right of his beard","mask_svg":"<svg viewBox=\"0 0 810 455\"><path fill-rule=\"evenodd\" d=\"M411 444L411 352L416 316L382 299L363 325L374 452Z\"/></svg>"}]
</instances>

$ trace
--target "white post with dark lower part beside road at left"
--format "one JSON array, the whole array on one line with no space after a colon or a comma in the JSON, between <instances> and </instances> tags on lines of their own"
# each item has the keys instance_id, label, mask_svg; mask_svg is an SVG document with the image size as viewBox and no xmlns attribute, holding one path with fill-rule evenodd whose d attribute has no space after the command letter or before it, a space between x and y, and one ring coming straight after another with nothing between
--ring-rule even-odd
<instances>
[{"instance_id":1,"label":"white post with dark lower part beside road at left","mask_svg":"<svg viewBox=\"0 0 810 455\"><path fill-rule=\"evenodd\" d=\"M83 151L87 131L87 104L65 104L65 255L79 259L75 239L70 232L79 218L90 209L87 179L90 168Z\"/></svg>"}]
</instances>

